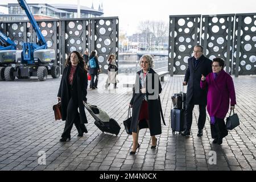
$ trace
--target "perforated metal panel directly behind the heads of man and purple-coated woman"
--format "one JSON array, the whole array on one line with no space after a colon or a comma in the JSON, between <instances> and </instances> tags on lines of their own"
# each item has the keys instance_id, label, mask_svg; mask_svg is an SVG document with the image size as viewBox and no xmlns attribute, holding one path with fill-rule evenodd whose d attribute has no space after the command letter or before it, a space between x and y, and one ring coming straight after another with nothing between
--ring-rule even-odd
<instances>
[{"instance_id":1,"label":"perforated metal panel directly behind the heads of man and purple-coated woman","mask_svg":"<svg viewBox=\"0 0 256 182\"><path fill-rule=\"evenodd\" d=\"M226 62L224 68L231 74L234 14L229 15L203 15L201 46L204 55L210 60L221 57Z\"/></svg>"}]
</instances>

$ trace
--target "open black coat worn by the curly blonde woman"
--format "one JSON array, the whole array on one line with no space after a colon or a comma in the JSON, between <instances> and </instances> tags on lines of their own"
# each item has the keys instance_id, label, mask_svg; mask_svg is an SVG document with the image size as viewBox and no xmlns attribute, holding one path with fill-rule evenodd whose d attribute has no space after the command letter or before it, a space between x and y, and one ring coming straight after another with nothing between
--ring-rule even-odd
<instances>
[{"instance_id":1,"label":"open black coat worn by the curly blonde woman","mask_svg":"<svg viewBox=\"0 0 256 182\"><path fill-rule=\"evenodd\" d=\"M141 82L139 81L139 75L141 71L137 72L136 74L136 81L135 81L135 89L133 92L133 98L131 98L130 104L133 106L133 115L131 118L131 131L134 133L137 133L137 125L138 125L138 119L139 119L139 112L141 110L141 105L143 98L145 96L144 93L141 93ZM152 89L154 89L154 75L156 72L150 68L150 71L148 73L152 74ZM149 84L150 80L148 79L148 76L146 78L147 85ZM156 96L156 99L148 99L148 114L149 114L149 124L150 124L150 135L160 135L162 133L162 127L161 127L161 116L160 112L162 111L161 102L159 94L162 92L162 86L160 84L160 80L158 77L158 95ZM139 88L136 88L136 85L139 85ZM157 88L156 88L157 89ZM137 90L137 92L135 92ZM139 93L138 93L139 92ZM148 89L146 89L146 96L149 98L150 96L154 95L150 92ZM163 121L164 122L164 121ZM140 121L139 122L139 129L147 128L147 122L146 121Z\"/></svg>"}]
</instances>

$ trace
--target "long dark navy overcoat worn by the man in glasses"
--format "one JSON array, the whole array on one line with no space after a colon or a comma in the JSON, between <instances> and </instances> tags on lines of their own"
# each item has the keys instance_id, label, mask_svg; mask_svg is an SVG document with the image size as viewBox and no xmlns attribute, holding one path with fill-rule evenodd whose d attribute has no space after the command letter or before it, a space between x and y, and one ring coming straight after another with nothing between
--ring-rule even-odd
<instances>
[{"instance_id":1,"label":"long dark navy overcoat worn by the man in glasses","mask_svg":"<svg viewBox=\"0 0 256 182\"><path fill-rule=\"evenodd\" d=\"M200 88L200 80L202 74L207 76L212 72L212 61L202 55L195 68L195 60L194 56L188 59L188 68L185 73L184 81L188 83L186 103L207 105L207 89L203 90Z\"/></svg>"}]
</instances>

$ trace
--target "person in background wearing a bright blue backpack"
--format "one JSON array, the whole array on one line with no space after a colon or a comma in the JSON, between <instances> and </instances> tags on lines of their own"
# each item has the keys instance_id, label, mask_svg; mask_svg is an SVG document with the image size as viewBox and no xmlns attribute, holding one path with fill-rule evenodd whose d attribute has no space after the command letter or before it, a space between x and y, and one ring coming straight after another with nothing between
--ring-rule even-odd
<instances>
[{"instance_id":1,"label":"person in background wearing a bright blue backpack","mask_svg":"<svg viewBox=\"0 0 256 182\"><path fill-rule=\"evenodd\" d=\"M100 66L98 65L98 57L96 51L92 51L88 61L89 74L91 76L90 89L97 89L98 85L98 73L100 72ZM94 77L96 77L94 81Z\"/></svg>"}]
</instances>

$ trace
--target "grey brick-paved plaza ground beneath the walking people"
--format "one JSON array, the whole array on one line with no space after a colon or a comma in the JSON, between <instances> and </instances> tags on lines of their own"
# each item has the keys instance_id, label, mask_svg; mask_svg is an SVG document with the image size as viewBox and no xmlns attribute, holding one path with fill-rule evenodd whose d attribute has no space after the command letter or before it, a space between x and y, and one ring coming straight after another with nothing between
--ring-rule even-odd
<instances>
[{"instance_id":1,"label":"grey brick-paved plaza ground beneath the walking people","mask_svg":"<svg viewBox=\"0 0 256 182\"><path fill-rule=\"evenodd\" d=\"M234 78L237 94L236 111L241 124L229 132L221 146L212 144L209 118L203 137L197 137L198 107L193 113L192 135L172 134L170 128L171 96L181 91L183 76L166 76L161 94L164 118L158 146L150 148L150 133L141 130L141 148L131 156L132 137L123 128L131 88L122 83L133 81L134 76L119 75L119 88L104 89L106 75L100 75L99 89L88 90L88 102L108 111L121 125L119 135L102 133L88 115L88 133L78 138L75 126L71 141L60 143L63 121L55 121L52 105L60 78L39 82L15 80L0 82L0 169L1 170L256 170L256 77ZM212 161L216 151L217 163ZM39 164L46 152L46 165ZM210 160L209 160L210 159ZM38 162L39 161L39 162Z\"/></svg>"}]
</instances>

